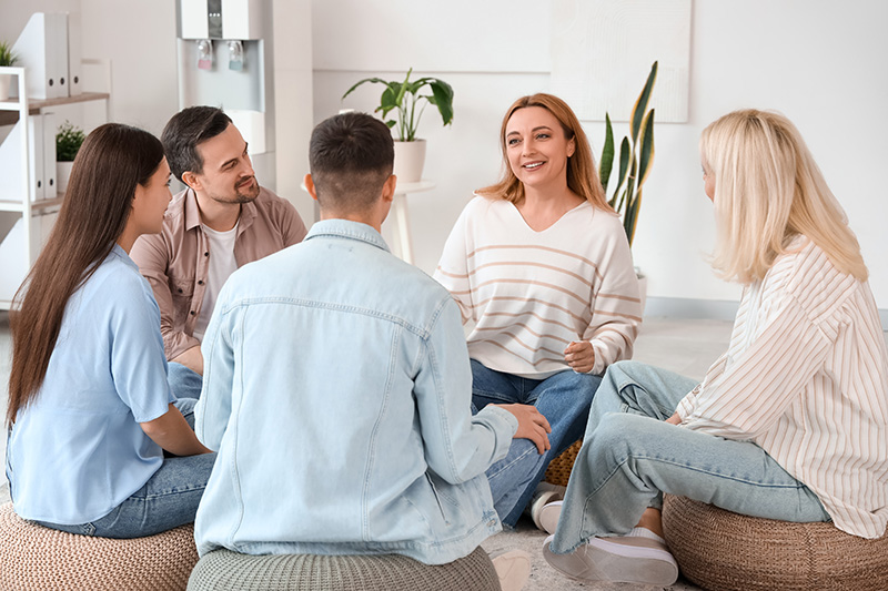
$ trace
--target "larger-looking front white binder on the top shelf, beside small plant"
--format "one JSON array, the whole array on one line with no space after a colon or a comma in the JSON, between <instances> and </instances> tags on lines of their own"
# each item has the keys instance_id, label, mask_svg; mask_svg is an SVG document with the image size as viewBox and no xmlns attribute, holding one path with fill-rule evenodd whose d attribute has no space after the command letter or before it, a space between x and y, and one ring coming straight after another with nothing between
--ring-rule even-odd
<instances>
[{"instance_id":1,"label":"larger-looking front white binder on the top shelf, beside small plant","mask_svg":"<svg viewBox=\"0 0 888 591\"><path fill-rule=\"evenodd\" d=\"M68 14L34 12L12 51L28 69L30 99L68 96Z\"/></svg>"}]
</instances>

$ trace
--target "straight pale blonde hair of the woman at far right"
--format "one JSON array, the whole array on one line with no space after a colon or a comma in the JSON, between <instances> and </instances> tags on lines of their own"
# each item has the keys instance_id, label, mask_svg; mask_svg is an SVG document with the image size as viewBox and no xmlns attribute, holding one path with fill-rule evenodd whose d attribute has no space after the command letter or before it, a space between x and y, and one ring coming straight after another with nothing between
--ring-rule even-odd
<instances>
[{"instance_id":1,"label":"straight pale blonde hair of the woman at far right","mask_svg":"<svg viewBox=\"0 0 888 591\"><path fill-rule=\"evenodd\" d=\"M798 130L785 116L735 111L700 135L704 171L715 176L717 243L713 267L748 284L765 277L799 234L844 273L868 276L845 211Z\"/></svg>"}]
</instances>

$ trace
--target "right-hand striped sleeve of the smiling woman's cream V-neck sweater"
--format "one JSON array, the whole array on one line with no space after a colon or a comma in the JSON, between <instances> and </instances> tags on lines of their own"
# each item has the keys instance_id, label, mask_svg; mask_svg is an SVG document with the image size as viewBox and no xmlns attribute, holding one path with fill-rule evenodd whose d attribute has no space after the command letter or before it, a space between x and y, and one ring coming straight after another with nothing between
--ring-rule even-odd
<instances>
[{"instance_id":1,"label":"right-hand striped sleeve of the smiling woman's cream V-neck sweater","mask_svg":"<svg viewBox=\"0 0 888 591\"><path fill-rule=\"evenodd\" d=\"M618 223L607 230L598 266L601 283L597 289L593 289L589 303L592 322L583 335L583 340L588 340L595 349L592 374L603 374L610 364L630 359L642 325L638 277L632 264L629 244Z\"/></svg>"}]
</instances>

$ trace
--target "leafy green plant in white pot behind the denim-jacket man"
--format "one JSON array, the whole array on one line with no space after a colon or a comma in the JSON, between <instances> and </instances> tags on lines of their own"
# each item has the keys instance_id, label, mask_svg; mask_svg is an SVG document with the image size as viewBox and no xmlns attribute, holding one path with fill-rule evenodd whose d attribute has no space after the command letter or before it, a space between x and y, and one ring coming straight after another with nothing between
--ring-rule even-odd
<instances>
[{"instance_id":1,"label":"leafy green plant in white pot behind the denim-jacket man","mask_svg":"<svg viewBox=\"0 0 888 591\"><path fill-rule=\"evenodd\" d=\"M437 78L420 78L411 80L413 68L407 70L403 81L389 82L381 78L365 78L356 82L345 94L344 100L357 86L365 82L385 85L380 96L380 105L374 112L382 113L383 121L389 128L397 131L395 141L395 174L404 183L417 183L422 180L423 164L425 162L425 140L416 139L416 128L420 125L425 108L433 104L441 113L444 125L453 123L453 88ZM420 94L425 86L432 94ZM426 104L420 105L425 101ZM418 108L418 111L417 111ZM395 119L386 119L389 113L395 111Z\"/></svg>"}]
</instances>

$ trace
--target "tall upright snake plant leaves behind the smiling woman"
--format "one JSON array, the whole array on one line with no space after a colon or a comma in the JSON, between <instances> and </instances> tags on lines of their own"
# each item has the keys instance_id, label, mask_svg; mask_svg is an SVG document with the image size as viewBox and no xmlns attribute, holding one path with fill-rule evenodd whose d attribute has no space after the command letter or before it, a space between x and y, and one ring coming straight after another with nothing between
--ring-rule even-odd
<instances>
[{"instance_id":1,"label":"tall upright snake plant leaves behind the smiling woman","mask_svg":"<svg viewBox=\"0 0 888 591\"><path fill-rule=\"evenodd\" d=\"M650 173L654 162L654 110L647 110L650 92L657 79L657 62L650 67L645 88L635 101L629 118L629 136L624 136L619 144L619 176L614 194L608 201L612 207L623 216L623 228L632 246L635 226L638 223L638 210L642 206L642 185ZM602 149L602 162L598 175L607 194L607 184L614 166L614 129L610 115L605 114L605 139Z\"/></svg>"}]
</instances>

